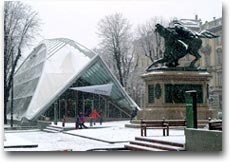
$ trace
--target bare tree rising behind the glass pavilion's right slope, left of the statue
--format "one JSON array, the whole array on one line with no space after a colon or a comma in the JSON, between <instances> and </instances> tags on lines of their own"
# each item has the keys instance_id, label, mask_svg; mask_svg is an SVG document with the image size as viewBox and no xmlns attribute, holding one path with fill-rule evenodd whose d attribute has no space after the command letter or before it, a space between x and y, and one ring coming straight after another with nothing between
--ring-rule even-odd
<instances>
[{"instance_id":1,"label":"bare tree rising behind the glass pavilion's right slope, left of the statue","mask_svg":"<svg viewBox=\"0 0 230 162\"><path fill-rule=\"evenodd\" d=\"M104 53L112 55L115 63L115 75L122 86L126 86L134 51L132 48L131 25L122 14L105 16L98 24L98 35Z\"/></svg>"}]
</instances>

